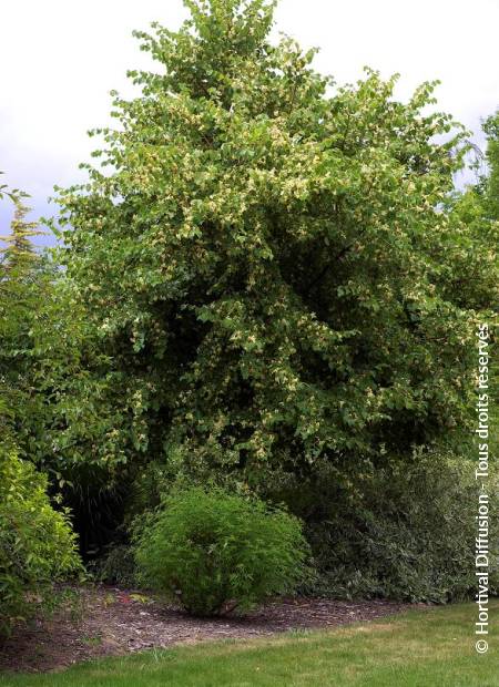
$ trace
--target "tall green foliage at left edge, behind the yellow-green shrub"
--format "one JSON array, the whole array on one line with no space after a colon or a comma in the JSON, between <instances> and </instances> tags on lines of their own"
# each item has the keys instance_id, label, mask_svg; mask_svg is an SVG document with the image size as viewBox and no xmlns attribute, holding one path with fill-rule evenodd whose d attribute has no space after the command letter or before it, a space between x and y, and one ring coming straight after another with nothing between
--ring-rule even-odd
<instances>
[{"instance_id":1,"label":"tall green foliage at left edge, behind the yellow-green shrub","mask_svg":"<svg viewBox=\"0 0 499 687\"><path fill-rule=\"evenodd\" d=\"M62 492L72 507L86 552L106 539L102 530L114 531L121 513L113 479L120 457L113 454L109 464L109 420L99 412L110 386L108 356L95 345L71 280L50 252L34 248L32 238L41 232L27 219L27 197L0 186L0 201L13 207L11 225L0 236L0 468L23 459L45 472L51 493ZM115 398L114 391L112 407ZM100 461L86 460L93 442ZM32 476L33 490L45 479L28 466L19 471Z\"/></svg>"}]
</instances>

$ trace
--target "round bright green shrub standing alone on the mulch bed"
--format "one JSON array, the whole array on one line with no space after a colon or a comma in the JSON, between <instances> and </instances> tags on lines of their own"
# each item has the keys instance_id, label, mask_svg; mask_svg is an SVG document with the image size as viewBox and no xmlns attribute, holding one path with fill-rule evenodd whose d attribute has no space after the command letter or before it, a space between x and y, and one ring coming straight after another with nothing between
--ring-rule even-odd
<instances>
[{"instance_id":1,"label":"round bright green shrub standing alone on the mulch bed","mask_svg":"<svg viewBox=\"0 0 499 687\"><path fill-rule=\"evenodd\" d=\"M293 592L307 556L298 519L221 489L171 493L135 532L142 582L198 616Z\"/></svg>"}]
</instances>

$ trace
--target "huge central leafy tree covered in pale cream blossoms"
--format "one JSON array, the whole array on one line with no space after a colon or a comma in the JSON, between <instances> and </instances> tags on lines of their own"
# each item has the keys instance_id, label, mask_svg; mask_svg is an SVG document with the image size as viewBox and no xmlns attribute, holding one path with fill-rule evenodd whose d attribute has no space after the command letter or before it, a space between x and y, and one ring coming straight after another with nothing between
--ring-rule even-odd
<instances>
[{"instance_id":1,"label":"huge central leafy tree covered in pale cream blossoms","mask_svg":"<svg viewBox=\"0 0 499 687\"><path fill-rule=\"evenodd\" d=\"M274 2L185 4L177 32L139 33L159 71L131 73L142 94L94 132L103 166L60 194L106 356L65 389L65 454L257 483L447 435L472 407L481 284L464 298L452 273L465 132L428 114L435 84L336 88L314 51L271 44Z\"/></svg>"}]
</instances>

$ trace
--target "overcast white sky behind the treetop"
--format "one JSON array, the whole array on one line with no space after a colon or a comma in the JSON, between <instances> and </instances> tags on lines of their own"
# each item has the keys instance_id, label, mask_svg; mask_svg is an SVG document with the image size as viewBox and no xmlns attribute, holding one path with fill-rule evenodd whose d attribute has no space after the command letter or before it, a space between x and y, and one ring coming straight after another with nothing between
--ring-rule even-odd
<instances>
[{"instance_id":1,"label":"overcast white sky behind the treetop","mask_svg":"<svg viewBox=\"0 0 499 687\"><path fill-rule=\"evenodd\" d=\"M80 180L93 126L109 123L111 89L133 91L128 69L146 66L132 38L159 20L177 28L182 0L16 0L0 9L0 170L32 195L32 216L54 184ZM439 109L471 129L499 105L499 0L281 0L276 31L316 45L319 71L354 81L368 64L401 74L406 99L421 81L440 79ZM4 233L6 204L0 208Z\"/></svg>"}]
</instances>

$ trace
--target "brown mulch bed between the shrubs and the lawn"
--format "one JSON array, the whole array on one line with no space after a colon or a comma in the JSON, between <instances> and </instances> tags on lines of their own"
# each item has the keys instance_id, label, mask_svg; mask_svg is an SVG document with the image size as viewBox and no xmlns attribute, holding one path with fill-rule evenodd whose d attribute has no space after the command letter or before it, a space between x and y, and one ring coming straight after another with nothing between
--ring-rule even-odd
<instances>
[{"instance_id":1,"label":"brown mulch bed between the shrubs and the lawn","mask_svg":"<svg viewBox=\"0 0 499 687\"><path fill-rule=\"evenodd\" d=\"M153 647L326 628L409 608L383 601L285 599L246 617L192 618L157 599L115 587L81 589L81 614L59 613L19 628L0 648L0 670L60 670L89 658Z\"/></svg>"}]
</instances>

